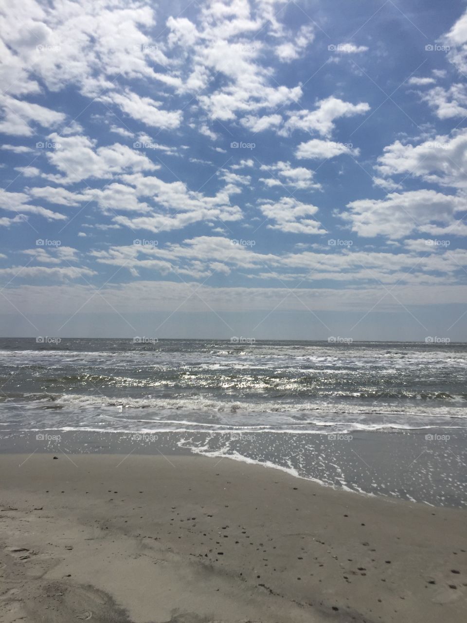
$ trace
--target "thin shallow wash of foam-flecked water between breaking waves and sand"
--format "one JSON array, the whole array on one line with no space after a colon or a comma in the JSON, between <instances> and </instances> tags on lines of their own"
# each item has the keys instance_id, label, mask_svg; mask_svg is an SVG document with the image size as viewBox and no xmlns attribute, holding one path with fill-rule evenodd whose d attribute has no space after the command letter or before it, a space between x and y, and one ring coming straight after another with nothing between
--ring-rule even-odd
<instances>
[{"instance_id":1,"label":"thin shallow wash of foam-flecked water between breaking waves and sand","mask_svg":"<svg viewBox=\"0 0 467 623\"><path fill-rule=\"evenodd\" d=\"M423 430L353 431L351 435L262 432L245 438L235 431L0 430L0 455L65 452L230 458L339 491L436 508L467 508L466 431L437 430L447 433L438 437L448 440L427 441ZM339 436L351 440L329 439ZM294 454L296 459L290 460Z\"/></svg>"}]
</instances>

